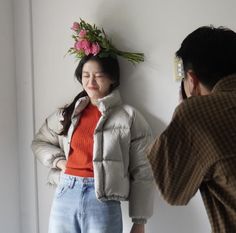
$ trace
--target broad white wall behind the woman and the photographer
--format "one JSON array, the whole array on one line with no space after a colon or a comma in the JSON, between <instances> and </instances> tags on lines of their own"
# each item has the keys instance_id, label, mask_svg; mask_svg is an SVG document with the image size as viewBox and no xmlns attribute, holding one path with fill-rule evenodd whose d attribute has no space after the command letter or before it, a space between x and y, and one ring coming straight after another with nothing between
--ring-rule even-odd
<instances>
[{"instance_id":1,"label":"broad white wall behind the woman and the photographer","mask_svg":"<svg viewBox=\"0 0 236 233\"><path fill-rule=\"evenodd\" d=\"M16 24L24 29L17 41L18 65L18 113L27 133L21 144L23 161L21 202L26 207L28 224L23 233L36 232L38 198L39 233L47 232L48 216L53 190L45 185L46 169L37 164L29 152L34 127L39 129L45 117L56 108L70 101L80 90L73 78L76 63L72 57L64 57L73 44L70 26L79 17L99 26L113 38L117 47L142 51L146 62L136 67L121 60L121 93L125 102L142 111L155 135L165 128L177 105L178 86L173 80L173 56L184 37L202 25L224 25L236 30L234 0L31 0L33 38L30 40L29 2L15 0ZM15 8L16 9L16 8ZM30 10L30 9L29 9ZM22 14L23 12L23 14ZM23 24L22 24L23 22ZM20 29L18 29L20 33ZM23 49L21 48L23 44ZM32 45L33 47L30 47ZM26 51L26 53L25 53ZM33 52L33 57L31 57ZM24 57L25 60L21 60ZM32 59L32 60L31 60ZM30 61L33 61L31 64ZM33 79L31 79L33 77ZM32 89L31 85L34 86ZM31 101L33 100L32 108ZM21 112L23 108L23 112ZM34 118L35 116L35 118ZM34 122L35 119L35 122ZM28 120L28 124L27 121ZM32 176L29 178L29 174ZM34 186L37 178L37 187ZM25 179L27 179L25 181ZM27 183L29 188L27 189ZM26 189L25 189L26 188ZM32 188L32 190L30 189ZM38 189L37 195L34 191ZM23 205L21 206L22 211ZM147 225L147 233L206 233L209 224L201 198L197 194L187 207L170 207L156 193L155 214ZM127 217L127 205L123 205L124 232L131 225ZM35 230L29 230L35 227Z\"/></svg>"}]
</instances>

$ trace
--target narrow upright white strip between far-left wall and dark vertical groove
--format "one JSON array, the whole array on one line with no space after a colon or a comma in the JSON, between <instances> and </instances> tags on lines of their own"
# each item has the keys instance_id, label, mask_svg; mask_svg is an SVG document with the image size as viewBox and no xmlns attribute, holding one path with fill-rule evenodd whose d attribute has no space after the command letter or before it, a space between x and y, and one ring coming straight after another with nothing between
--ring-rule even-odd
<instances>
[{"instance_id":1,"label":"narrow upright white strip between far-left wall and dark vertical groove","mask_svg":"<svg viewBox=\"0 0 236 233\"><path fill-rule=\"evenodd\" d=\"M37 173L30 148L34 135L31 22L30 0L14 0L21 233L38 232Z\"/></svg>"}]
</instances>

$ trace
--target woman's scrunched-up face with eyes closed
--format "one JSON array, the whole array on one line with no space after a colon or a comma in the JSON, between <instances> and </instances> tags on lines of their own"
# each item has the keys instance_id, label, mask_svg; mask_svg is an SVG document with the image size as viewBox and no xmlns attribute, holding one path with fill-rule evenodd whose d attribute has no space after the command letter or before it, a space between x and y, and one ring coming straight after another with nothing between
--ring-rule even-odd
<instances>
[{"instance_id":1,"label":"woman's scrunched-up face with eyes closed","mask_svg":"<svg viewBox=\"0 0 236 233\"><path fill-rule=\"evenodd\" d=\"M91 60L84 64L82 86L90 99L97 100L108 95L112 83L98 62Z\"/></svg>"}]
</instances>

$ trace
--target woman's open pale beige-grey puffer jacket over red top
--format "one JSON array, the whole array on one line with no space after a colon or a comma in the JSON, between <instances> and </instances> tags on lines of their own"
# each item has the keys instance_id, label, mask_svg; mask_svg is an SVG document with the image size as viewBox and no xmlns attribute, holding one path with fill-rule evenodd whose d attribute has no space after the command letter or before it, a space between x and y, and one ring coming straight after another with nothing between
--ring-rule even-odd
<instances>
[{"instance_id":1,"label":"woman's open pale beige-grey puffer jacket over red top","mask_svg":"<svg viewBox=\"0 0 236 233\"><path fill-rule=\"evenodd\" d=\"M88 103L88 97L77 101L66 137L58 135L63 120L59 110L46 119L32 142L36 157L50 168L50 184L59 182L56 164L68 158L73 131ZM150 127L137 110L121 103L117 90L99 99L97 107L102 115L94 131L96 196L99 200L128 200L133 221L146 222L152 215L154 199L153 176L146 158L152 141Z\"/></svg>"}]
</instances>

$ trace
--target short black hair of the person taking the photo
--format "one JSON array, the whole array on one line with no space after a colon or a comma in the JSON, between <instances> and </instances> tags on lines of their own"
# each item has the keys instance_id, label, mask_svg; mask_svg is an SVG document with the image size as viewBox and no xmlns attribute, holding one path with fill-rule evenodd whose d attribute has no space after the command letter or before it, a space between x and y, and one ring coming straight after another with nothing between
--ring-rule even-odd
<instances>
[{"instance_id":1,"label":"short black hair of the person taking the photo","mask_svg":"<svg viewBox=\"0 0 236 233\"><path fill-rule=\"evenodd\" d=\"M236 73L236 33L225 27L203 26L190 33L176 56L184 70L192 69L212 89L222 78Z\"/></svg>"}]
</instances>

